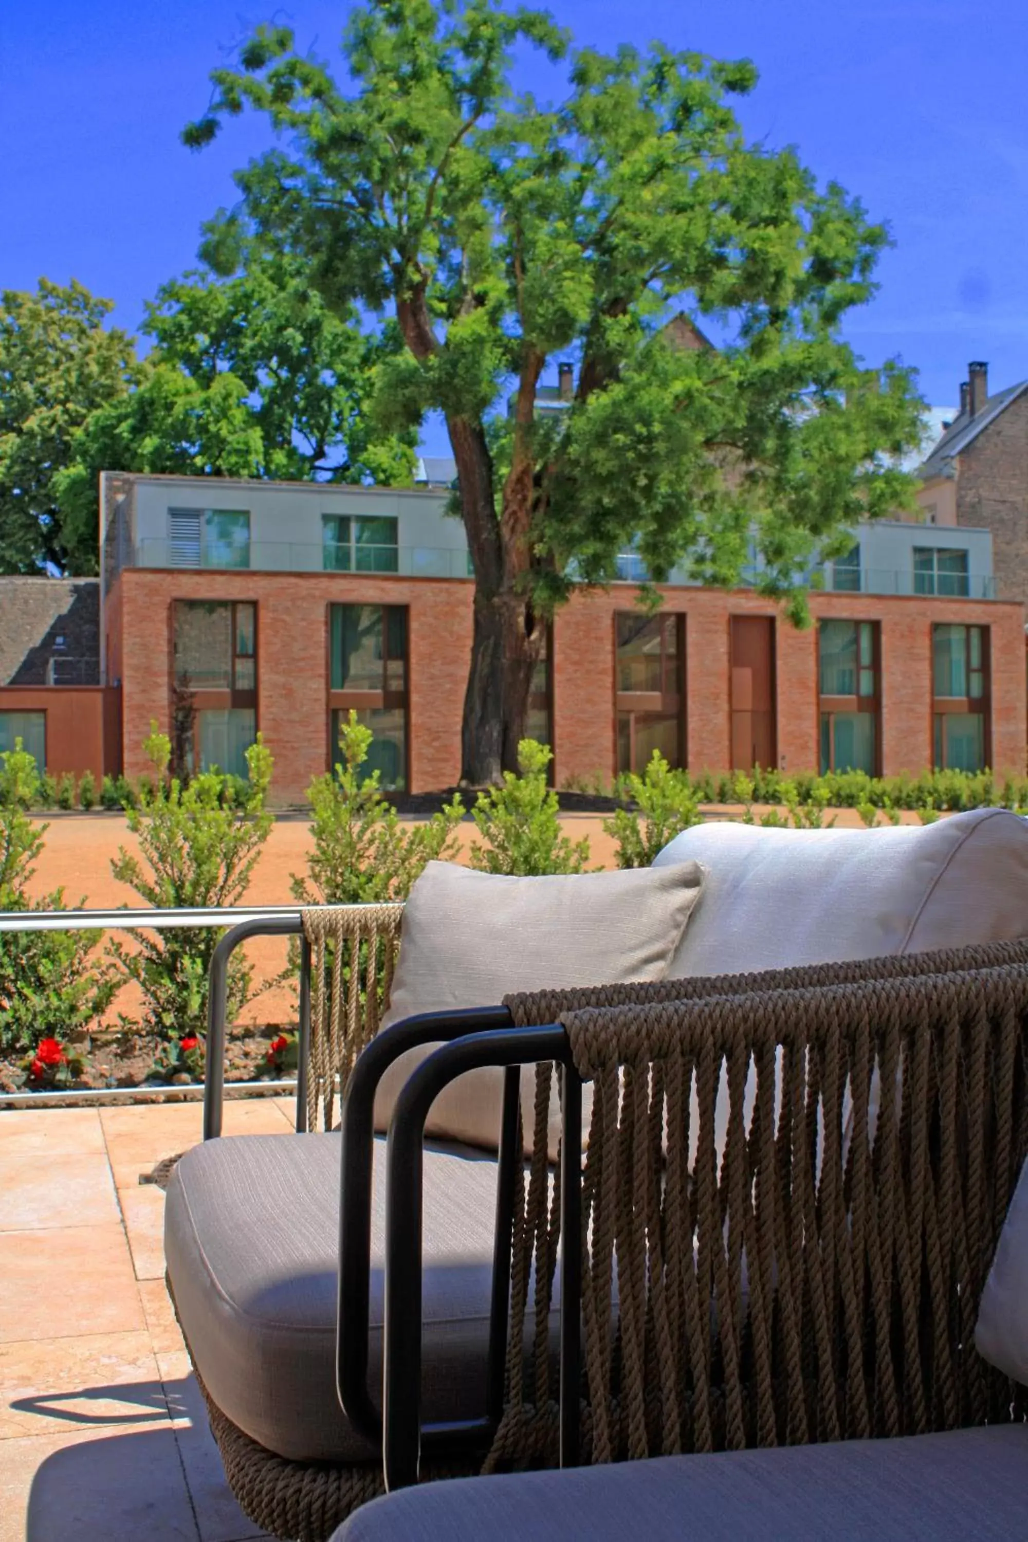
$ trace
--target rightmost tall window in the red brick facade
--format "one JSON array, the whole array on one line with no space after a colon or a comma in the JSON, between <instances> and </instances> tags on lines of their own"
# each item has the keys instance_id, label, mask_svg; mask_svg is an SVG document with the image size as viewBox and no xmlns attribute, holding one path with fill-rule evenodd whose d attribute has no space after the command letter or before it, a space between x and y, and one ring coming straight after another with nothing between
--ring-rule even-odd
<instances>
[{"instance_id":1,"label":"rightmost tall window in the red brick facade","mask_svg":"<svg viewBox=\"0 0 1028 1542\"><path fill-rule=\"evenodd\" d=\"M932 756L948 771L989 763L989 632L932 626Z\"/></svg>"}]
</instances>

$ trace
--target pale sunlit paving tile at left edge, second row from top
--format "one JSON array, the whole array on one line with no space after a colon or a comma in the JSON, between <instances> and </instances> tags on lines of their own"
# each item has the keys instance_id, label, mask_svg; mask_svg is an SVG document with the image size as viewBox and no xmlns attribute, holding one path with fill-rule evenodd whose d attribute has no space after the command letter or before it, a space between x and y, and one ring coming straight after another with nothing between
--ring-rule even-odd
<instances>
[{"instance_id":1,"label":"pale sunlit paving tile at left edge, second row from top","mask_svg":"<svg viewBox=\"0 0 1028 1542\"><path fill-rule=\"evenodd\" d=\"M0 1232L117 1223L106 1156L0 1152Z\"/></svg>"}]
</instances>

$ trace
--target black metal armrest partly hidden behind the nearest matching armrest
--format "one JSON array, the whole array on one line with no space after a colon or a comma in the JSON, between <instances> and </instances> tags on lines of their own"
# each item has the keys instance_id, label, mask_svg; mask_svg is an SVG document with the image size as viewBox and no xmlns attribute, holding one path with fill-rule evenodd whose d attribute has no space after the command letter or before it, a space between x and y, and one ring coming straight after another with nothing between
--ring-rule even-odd
<instances>
[{"instance_id":1,"label":"black metal armrest partly hidden behind the nearest matching armrest","mask_svg":"<svg viewBox=\"0 0 1028 1542\"><path fill-rule=\"evenodd\" d=\"M506 1007L432 1012L405 1018L379 1033L361 1052L342 1099L342 1173L339 1183L339 1306L336 1314L336 1389L350 1423L375 1445L382 1442L382 1414L368 1392L368 1306L371 1292L371 1173L375 1156L375 1095L401 1055L421 1044L469 1033L512 1032ZM499 1132L498 1217L513 1207L518 1150L518 1078L504 1084ZM424 1121L422 1121L424 1123ZM499 1251L499 1232L498 1244ZM510 1249L507 1247L507 1255ZM502 1354L502 1349L501 1349Z\"/></svg>"}]
</instances>

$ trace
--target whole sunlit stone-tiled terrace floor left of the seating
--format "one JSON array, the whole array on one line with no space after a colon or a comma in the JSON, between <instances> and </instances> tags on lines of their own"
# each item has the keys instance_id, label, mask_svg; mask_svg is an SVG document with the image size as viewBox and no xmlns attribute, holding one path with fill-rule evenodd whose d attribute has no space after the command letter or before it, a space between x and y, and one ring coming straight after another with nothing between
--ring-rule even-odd
<instances>
[{"instance_id":1,"label":"whole sunlit stone-tiled terrace floor left of the seating","mask_svg":"<svg viewBox=\"0 0 1028 1542\"><path fill-rule=\"evenodd\" d=\"M253 1542L163 1284L163 1192L200 1106L0 1110L0 1542ZM230 1101L225 1135L293 1099Z\"/></svg>"}]
</instances>

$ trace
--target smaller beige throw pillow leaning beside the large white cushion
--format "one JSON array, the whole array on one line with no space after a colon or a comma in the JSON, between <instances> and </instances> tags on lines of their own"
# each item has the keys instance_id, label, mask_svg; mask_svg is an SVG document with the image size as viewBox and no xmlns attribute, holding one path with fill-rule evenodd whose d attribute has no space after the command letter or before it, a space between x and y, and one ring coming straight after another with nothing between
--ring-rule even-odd
<instances>
[{"instance_id":1,"label":"smaller beige throw pillow leaning beside the large white cushion","mask_svg":"<svg viewBox=\"0 0 1028 1542\"><path fill-rule=\"evenodd\" d=\"M384 1027L421 1012L495 1007L516 990L663 979L700 897L697 862L624 873L501 877L430 862L404 910ZM388 1129L412 1070L436 1045L402 1055L379 1084L375 1127ZM530 1107L533 1072L522 1078ZM496 1147L502 1072L472 1072L436 1099L427 1130ZM559 1113L550 1119L556 1152Z\"/></svg>"}]
</instances>

